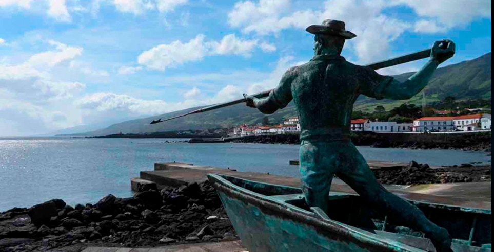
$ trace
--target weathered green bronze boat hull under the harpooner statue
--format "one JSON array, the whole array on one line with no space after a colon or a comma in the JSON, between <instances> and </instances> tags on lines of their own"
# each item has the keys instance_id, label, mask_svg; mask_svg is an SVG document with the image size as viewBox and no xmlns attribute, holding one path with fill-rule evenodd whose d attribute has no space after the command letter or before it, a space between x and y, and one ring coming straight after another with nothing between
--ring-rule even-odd
<instances>
[{"instance_id":1,"label":"weathered green bronze boat hull under the harpooner statue","mask_svg":"<svg viewBox=\"0 0 494 252\"><path fill-rule=\"evenodd\" d=\"M428 239L396 239L329 219L325 213L307 211L286 202L300 201L300 189L251 183L248 180L209 174L235 231L249 252L425 252L435 251ZM238 183L246 183L238 186ZM247 188L247 189L246 189ZM264 193L256 193L263 191ZM268 193L266 193L268 192ZM270 196L271 194L271 196ZM333 195L333 197L340 197ZM341 195L345 197L345 195ZM283 199L283 200L280 200ZM379 231L378 231L379 232ZM386 234L384 234L386 233ZM394 239L393 239L394 238ZM401 241L405 241L402 243ZM407 244L417 244L410 246ZM456 246L456 247L455 247ZM484 252L487 248L456 244L455 252Z\"/></svg>"}]
</instances>

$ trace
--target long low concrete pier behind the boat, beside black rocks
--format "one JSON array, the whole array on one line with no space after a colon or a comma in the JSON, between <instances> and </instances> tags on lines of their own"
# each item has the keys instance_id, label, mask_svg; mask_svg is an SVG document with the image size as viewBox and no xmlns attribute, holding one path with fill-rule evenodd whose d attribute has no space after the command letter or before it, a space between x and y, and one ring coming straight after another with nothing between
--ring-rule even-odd
<instances>
[{"instance_id":1,"label":"long low concrete pier behind the boat, beside black rocks","mask_svg":"<svg viewBox=\"0 0 494 252\"><path fill-rule=\"evenodd\" d=\"M300 178L283 177L259 172L239 172L211 166L196 166L188 163L155 163L154 171L142 171L140 179L155 182L160 187L181 186L191 182L202 182L208 173L225 174L269 184L300 187ZM466 208L492 209L491 182L456 184L430 184L418 186L384 185L401 197L429 203L458 205ZM334 178L331 191L357 194L341 179Z\"/></svg>"}]
</instances>

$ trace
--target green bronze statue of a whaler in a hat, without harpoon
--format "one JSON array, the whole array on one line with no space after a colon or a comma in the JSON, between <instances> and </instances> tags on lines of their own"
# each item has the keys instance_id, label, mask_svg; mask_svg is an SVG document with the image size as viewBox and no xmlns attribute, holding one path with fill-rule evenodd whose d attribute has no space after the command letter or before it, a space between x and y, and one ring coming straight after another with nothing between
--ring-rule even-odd
<instances>
[{"instance_id":1,"label":"green bronze statue of a whaler in a hat, without harpoon","mask_svg":"<svg viewBox=\"0 0 494 252\"><path fill-rule=\"evenodd\" d=\"M427 85L439 64L453 56L455 43L436 41L424 67L400 82L369 67L349 63L340 55L345 40L356 37L345 30L344 22L328 19L306 31L315 35L315 56L306 64L290 68L269 97L244 96L247 106L266 114L293 100L301 126L300 172L307 204L327 212L331 207L331 180L337 175L373 208L422 231L438 252L452 251L447 230L379 184L349 135L353 103L359 95L378 100L410 99Z\"/></svg>"}]
</instances>

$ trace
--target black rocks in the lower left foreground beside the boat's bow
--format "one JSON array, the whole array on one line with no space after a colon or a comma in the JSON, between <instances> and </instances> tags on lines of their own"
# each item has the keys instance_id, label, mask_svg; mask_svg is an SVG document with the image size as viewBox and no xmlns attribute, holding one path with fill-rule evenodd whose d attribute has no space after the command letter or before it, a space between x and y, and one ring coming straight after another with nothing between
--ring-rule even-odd
<instances>
[{"instance_id":1,"label":"black rocks in the lower left foreground beside the boat's bow","mask_svg":"<svg viewBox=\"0 0 494 252\"><path fill-rule=\"evenodd\" d=\"M0 251L81 251L88 246L153 247L238 240L208 181L144 188L130 198L96 204L53 199L0 213Z\"/></svg>"}]
</instances>

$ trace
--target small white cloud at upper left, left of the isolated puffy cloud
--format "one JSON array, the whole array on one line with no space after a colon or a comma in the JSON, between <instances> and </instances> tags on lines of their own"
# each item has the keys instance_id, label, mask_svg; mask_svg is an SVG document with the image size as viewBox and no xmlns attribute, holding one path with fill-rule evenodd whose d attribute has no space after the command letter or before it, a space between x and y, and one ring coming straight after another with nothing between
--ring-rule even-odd
<instances>
[{"instance_id":1,"label":"small white cloud at upper left, left of the isolated puffy cloud","mask_svg":"<svg viewBox=\"0 0 494 252\"><path fill-rule=\"evenodd\" d=\"M80 47L69 47L66 44L50 40L51 45L56 46L57 51L47 51L38 53L29 58L27 63L34 66L54 66L66 60L82 55L83 49Z\"/></svg>"}]
</instances>

